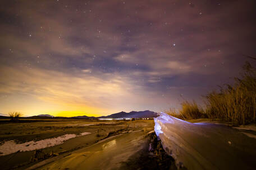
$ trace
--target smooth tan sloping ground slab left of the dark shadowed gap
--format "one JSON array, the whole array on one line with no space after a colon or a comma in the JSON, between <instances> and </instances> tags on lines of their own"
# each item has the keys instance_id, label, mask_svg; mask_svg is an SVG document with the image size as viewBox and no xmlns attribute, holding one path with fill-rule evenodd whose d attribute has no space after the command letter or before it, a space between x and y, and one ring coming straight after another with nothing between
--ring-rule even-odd
<instances>
[{"instance_id":1,"label":"smooth tan sloping ground slab left of the dark shadowed gap","mask_svg":"<svg viewBox=\"0 0 256 170\"><path fill-rule=\"evenodd\" d=\"M39 169L118 169L129 157L147 145L145 133L125 133L76 150L67 157Z\"/></svg>"}]
</instances>

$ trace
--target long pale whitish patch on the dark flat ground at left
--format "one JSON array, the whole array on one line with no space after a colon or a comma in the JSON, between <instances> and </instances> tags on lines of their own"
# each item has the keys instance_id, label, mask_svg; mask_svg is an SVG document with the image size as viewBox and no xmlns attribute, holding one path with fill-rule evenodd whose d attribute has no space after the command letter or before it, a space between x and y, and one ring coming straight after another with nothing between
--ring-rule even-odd
<instances>
[{"instance_id":1,"label":"long pale whitish patch on the dark flat ground at left","mask_svg":"<svg viewBox=\"0 0 256 170\"><path fill-rule=\"evenodd\" d=\"M81 133L80 135L75 134L65 134L62 136L58 136L56 138L49 138L39 141L28 141L26 143L22 144L16 144L15 141L9 140L4 142L2 145L0 145L0 156L8 155L15 152L25 152L25 151L31 151L35 149L43 149L48 147L53 147L54 145L60 145L65 140L75 138L77 136L84 136L90 134L89 132Z\"/></svg>"}]
</instances>

